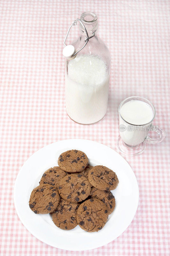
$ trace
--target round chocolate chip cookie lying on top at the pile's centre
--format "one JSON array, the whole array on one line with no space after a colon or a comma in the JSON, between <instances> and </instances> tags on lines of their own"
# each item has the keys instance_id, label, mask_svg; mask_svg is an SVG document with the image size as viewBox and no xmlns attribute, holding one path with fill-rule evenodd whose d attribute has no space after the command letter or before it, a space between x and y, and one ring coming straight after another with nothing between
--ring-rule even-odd
<instances>
[{"instance_id":1,"label":"round chocolate chip cookie lying on top at the pile's centre","mask_svg":"<svg viewBox=\"0 0 170 256\"><path fill-rule=\"evenodd\" d=\"M90 182L82 174L66 175L58 187L60 196L66 201L78 203L87 198L91 191Z\"/></svg>"}]
</instances>

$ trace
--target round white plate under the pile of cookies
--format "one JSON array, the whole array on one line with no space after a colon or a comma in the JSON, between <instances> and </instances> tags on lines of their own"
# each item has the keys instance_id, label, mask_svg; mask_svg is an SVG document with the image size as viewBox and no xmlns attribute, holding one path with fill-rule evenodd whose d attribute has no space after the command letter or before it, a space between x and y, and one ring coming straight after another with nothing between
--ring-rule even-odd
<instances>
[{"instance_id":1,"label":"round white plate under the pile of cookies","mask_svg":"<svg viewBox=\"0 0 170 256\"><path fill-rule=\"evenodd\" d=\"M56 166L59 155L69 149L84 151L91 165L105 165L119 179L118 187L112 190L115 210L98 232L88 233L79 226L62 230L55 226L50 214L35 214L29 208L31 191L39 185L44 171ZM138 200L137 180L129 164L113 149L90 140L62 140L41 148L22 166L14 187L14 204L23 225L42 242L63 250L90 250L113 241L133 220Z\"/></svg>"}]
</instances>

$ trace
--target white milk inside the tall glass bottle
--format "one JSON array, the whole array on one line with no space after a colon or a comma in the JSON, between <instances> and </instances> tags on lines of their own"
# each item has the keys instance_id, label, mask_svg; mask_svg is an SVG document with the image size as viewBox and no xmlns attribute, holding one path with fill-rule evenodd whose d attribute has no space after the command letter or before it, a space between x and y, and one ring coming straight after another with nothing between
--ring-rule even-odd
<instances>
[{"instance_id":1,"label":"white milk inside the tall glass bottle","mask_svg":"<svg viewBox=\"0 0 170 256\"><path fill-rule=\"evenodd\" d=\"M105 116L109 75L99 56L85 54L70 60L65 86L66 111L71 119L91 124Z\"/></svg>"}]
</instances>

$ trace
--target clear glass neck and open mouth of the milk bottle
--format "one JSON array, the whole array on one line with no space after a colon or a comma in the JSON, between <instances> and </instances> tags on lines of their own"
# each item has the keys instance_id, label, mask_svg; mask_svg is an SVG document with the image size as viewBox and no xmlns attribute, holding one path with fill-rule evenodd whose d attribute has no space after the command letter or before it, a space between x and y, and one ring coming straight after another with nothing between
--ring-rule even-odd
<instances>
[{"instance_id":1,"label":"clear glass neck and open mouth of the milk bottle","mask_svg":"<svg viewBox=\"0 0 170 256\"><path fill-rule=\"evenodd\" d=\"M98 29L98 22L97 22L97 15L94 12L84 12L80 16L81 21L83 22L85 28L87 29L89 37L92 36L92 33L97 32ZM86 36L85 29L80 23L80 31L82 36Z\"/></svg>"}]
</instances>

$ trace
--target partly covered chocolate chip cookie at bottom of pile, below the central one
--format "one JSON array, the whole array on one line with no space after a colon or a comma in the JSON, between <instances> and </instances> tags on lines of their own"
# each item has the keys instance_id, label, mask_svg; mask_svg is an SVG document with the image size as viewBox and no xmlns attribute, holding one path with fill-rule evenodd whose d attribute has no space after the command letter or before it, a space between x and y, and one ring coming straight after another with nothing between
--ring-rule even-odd
<instances>
[{"instance_id":1,"label":"partly covered chocolate chip cookie at bottom of pile, below the central one","mask_svg":"<svg viewBox=\"0 0 170 256\"><path fill-rule=\"evenodd\" d=\"M64 199L60 202L54 212L51 213L54 224L61 229L70 230L78 224L76 221L76 212L78 204L70 203Z\"/></svg>"}]
</instances>

